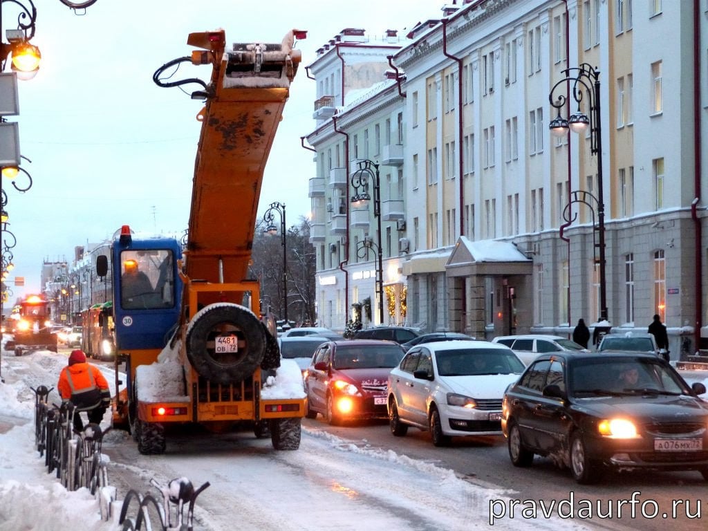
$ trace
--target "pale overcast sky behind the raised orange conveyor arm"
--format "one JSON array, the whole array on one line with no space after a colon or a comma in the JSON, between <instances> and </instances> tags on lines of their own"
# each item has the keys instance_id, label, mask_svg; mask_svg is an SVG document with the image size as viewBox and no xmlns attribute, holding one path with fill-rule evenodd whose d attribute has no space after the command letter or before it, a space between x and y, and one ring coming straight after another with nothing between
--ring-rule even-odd
<instances>
[{"instance_id":1,"label":"pale overcast sky behind the raised orange conveyor arm","mask_svg":"<svg viewBox=\"0 0 708 531\"><path fill-rule=\"evenodd\" d=\"M452 4L452 1L447 2ZM83 16L59 0L35 0L33 44L42 52L40 72L20 81L22 167L33 187L8 194L8 229L24 288L11 301L38 292L44 261L72 263L74 247L110 237L122 224L137 232L181 233L188 220L202 107L178 88L162 89L152 74L171 59L189 55L190 32L224 28L227 42L280 42L292 28L308 30L299 41L302 67L343 28L386 29L405 35L419 21L440 18L440 0L245 2L234 0L98 0ZM11 3L3 4L3 33L13 27ZM182 75L182 73L188 75ZM175 79L197 74L181 70ZM198 86L189 86L194 90ZM301 68L285 105L261 190L259 215L285 202L288 226L308 216L312 152L300 137L314 129L315 86ZM18 178L18 185L26 185ZM218 212L215 212L218 215Z\"/></svg>"}]
</instances>

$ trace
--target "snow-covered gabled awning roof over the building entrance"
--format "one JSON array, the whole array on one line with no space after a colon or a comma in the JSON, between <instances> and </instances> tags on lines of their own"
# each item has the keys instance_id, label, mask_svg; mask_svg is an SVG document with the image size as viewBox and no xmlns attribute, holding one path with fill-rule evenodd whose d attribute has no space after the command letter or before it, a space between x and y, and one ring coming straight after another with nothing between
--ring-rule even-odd
<instances>
[{"instance_id":1,"label":"snow-covered gabled awning roof over the building entrance","mask_svg":"<svg viewBox=\"0 0 708 531\"><path fill-rule=\"evenodd\" d=\"M533 261L510 241L470 241L459 236L445 264L448 277L530 275Z\"/></svg>"}]
</instances>

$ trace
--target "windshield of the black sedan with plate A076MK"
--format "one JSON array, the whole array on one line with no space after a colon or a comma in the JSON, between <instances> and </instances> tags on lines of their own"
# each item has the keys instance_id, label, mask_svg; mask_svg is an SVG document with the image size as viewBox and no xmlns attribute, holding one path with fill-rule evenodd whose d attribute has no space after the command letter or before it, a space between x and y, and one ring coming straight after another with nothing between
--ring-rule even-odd
<instances>
[{"instance_id":1,"label":"windshield of the black sedan with plate A076MK","mask_svg":"<svg viewBox=\"0 0 708 531\"><path fill-rule=\"evenodd\" d=\"M571 365L569 395L690 394L685 382L658 358L584 358Z\"/></svg>"}]
</instances>

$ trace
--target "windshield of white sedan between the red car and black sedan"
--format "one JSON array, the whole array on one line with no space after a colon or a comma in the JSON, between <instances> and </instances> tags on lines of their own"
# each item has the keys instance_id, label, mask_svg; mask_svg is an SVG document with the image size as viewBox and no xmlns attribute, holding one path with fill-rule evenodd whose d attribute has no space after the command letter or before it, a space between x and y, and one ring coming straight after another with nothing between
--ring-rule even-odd
<instances>
[{"instance_id":1,"label":"windshield of white sedan between the red car and black sedan","mask_svg":"<svg viewBox=\"0 0 708 531\"><path fill-rule=\"evenodd\" d=\"M435 353L440 376L520 374L524 364L513 352L501 348L459 348Z\"/></svg>"}]
</instances>

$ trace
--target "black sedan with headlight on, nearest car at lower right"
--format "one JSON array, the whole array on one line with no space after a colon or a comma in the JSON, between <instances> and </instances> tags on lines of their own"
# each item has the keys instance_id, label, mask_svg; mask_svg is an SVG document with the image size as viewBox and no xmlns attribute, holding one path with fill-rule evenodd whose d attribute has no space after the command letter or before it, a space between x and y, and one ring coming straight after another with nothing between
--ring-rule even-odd
<instances>
[{"instance_id":1,"label":"black sedan with headlight on, nearest car at lower right","mask_svg":"<svg viewBox=\"0 0 708 531\"><path fill-rule=\"evenodd\" d=\"M640 353L541 355L506 390L511 462L535 454L578 483L607 468L697 470L708 480L708 403L665 360Z\"/></svg>"}]
</instances>

